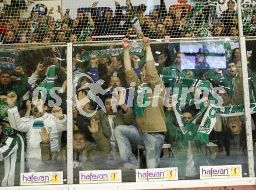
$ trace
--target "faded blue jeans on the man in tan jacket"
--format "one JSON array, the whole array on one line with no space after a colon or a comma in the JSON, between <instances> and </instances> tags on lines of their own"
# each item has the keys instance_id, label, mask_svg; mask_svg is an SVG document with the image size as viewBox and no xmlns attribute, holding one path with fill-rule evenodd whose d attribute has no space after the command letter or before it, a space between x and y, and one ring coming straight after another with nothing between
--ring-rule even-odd
<instances>
[{"instance_id":1,"label":"faded blue jeans on the man in tan jacket","mask_svg":"<svg viewBox=\"0 0 256 190\"><path fill-rule=\"evenodd\" d=\"M131 144L141 144L146 149L147 168L159 166L160 154L163 147L164 136L160 133L141 133L137 127L120 125L114 130L115 140L118 144L120 158L123 166L138 169L139 164L131 152Z\"/></svg>"}]
</instances>

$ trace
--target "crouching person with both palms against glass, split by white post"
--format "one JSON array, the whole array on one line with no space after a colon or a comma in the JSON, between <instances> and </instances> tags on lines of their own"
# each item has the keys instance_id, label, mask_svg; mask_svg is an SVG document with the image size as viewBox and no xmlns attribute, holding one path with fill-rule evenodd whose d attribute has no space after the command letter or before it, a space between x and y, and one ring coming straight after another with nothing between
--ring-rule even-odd
<instances>
[{"instance_id":1,"label":"crouching person with both palms against glass, split by white post","mask_svg":"<svg viewBox=\"0 0 256 190\"><path fill-rule=\"evenodd\" d=\"M94 155L108 154L111 151L110 141L104 136L102 130L99 129L97 120L91 119L88 130L93 136L95 143L87 141L84 133L80 131L74 131L73 134L73 166L77 169L77 173L74 175L79 174L79 170L92 169L90 161L92 161L91 157ZM51 165L66 163L66 147L62 148L60 152L52 151L50 133L47 132L45 127L41 128L40 136L42 162L51 163Z\"/></svg>"}]
</instances>

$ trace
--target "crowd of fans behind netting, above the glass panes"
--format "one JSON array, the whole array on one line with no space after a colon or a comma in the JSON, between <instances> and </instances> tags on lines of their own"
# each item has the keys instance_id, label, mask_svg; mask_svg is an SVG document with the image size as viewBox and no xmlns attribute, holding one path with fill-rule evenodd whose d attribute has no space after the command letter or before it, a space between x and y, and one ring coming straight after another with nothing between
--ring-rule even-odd
<instances>
[{"instance_id":1,"label":"crowd of fans behind netting, above the glass panes","mask_svg":"<svg viewBox=\"0 0 256 190\"><path fill-rule=\"evenodd\" d=\"M16 1L13 1L16 2ZM22 2L22 1L21 1ZM145 14L147 5L133 6L126 1L125 15L115 1L115 13L112 9L97 11L98 2L91 5L90 11L78 12L75 19L70 18L70 10L63 14L58 6L61 19L52 17L53 8L47 13L32 10L27 19L20 19L18 12L22 6L12 4L2 9L0 16L1 42L6 43L49 43L49 42L84 42L120 39L106 38L109 35L134 35L134 39L150 38L193 38L209 36L238 36L237 12L234 10L235 1L227 2L227 10L221 15L216 14L214 1L196 2L188 6L183 1L182 6L166 7L165 2ZM255 35L256 15L253 12L243 13L243 25L246 35ZM102 36L93 38L93 36Z\"/></svg>"}]
</instances>

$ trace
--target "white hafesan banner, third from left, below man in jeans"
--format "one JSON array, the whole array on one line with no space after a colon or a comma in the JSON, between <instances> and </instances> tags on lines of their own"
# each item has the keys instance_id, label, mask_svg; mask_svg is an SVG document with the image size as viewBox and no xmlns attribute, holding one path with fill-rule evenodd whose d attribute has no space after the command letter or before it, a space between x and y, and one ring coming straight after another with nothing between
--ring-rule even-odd
<instances>
[{"instance_id":1,"label":"white hafesan banner, third from left, below man in jeans","mask_svg":"<svg viewBox=\"0 0 256 190\"><path fill-rule=\"evenodd\" d=\"M170 180L178 180L177 167L136 170L136 182Z\"/></svg>"}]
</instances>

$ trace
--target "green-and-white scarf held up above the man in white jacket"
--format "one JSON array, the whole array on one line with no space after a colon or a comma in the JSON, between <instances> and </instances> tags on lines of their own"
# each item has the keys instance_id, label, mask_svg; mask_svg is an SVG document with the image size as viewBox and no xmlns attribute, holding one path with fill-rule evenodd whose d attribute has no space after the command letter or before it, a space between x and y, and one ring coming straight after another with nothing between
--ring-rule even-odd
<instances>
[{"instance_id":1,"label":"green-and-white scarf held up above the man in white jacket","mask_svg":"<svg viewBox=\"0 0 256 190\"><path fill-rule=\"evenodd\" d=\"M54 87L55 70L56 70L56 65L49 66L49 70L47 72L46 78L39 85L40 87L45 87L45 89L47 89L47 100L51 98L50 90Z\"/></svg>"}]
</instances>

